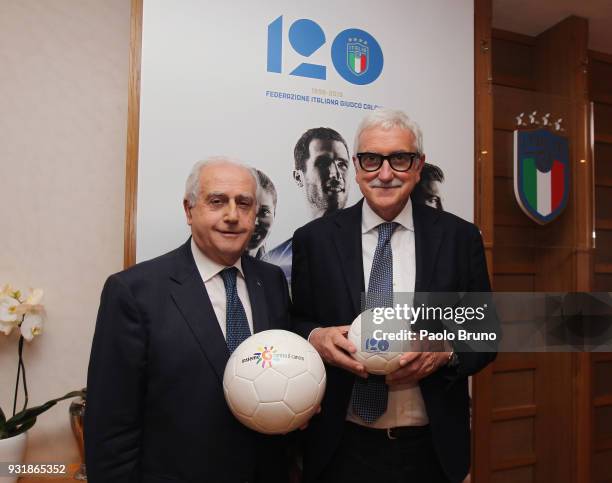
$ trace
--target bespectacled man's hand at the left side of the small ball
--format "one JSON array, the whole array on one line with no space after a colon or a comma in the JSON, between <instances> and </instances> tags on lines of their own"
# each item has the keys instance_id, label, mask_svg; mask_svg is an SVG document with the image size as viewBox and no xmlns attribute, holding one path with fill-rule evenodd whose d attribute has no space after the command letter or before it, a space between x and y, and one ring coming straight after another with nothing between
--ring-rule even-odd
<instances>
[{"instance_id":1,"label":"bespectacled man's hand at the left side of the small ball","mask_svg":"<svg viewBox=\"0 0 612 483\"><path fill-rule=\"evenodd\" d=\"M350 371L360 377L368 377L363 364L350 356L357 352L357 348L346 338L348 330L348 325L321 327L312 331L309 342L328 364Z\"/></svg>"}]
</instances>

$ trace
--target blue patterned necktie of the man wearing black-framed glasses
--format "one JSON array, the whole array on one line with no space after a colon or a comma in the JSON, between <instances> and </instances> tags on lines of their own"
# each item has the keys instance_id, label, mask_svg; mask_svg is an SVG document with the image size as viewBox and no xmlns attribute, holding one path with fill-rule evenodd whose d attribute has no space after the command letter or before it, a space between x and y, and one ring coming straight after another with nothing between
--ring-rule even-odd
<instances>
[{"instance_id":1,"label":"blue patterned necktie of the man wearing black-framed glasses","mask_svg":"<svg viewBox=\"0 0 612 483\"><path fill-rule=\"evenodd\" d=\"M393 251L391 235L397 223L378 225L378 243L372 261L364 309L393 306ZM353 411L366 423L373 423L387 410L389 388L385 376L370 374L355 378L351 403Z\"/></svg>"}]
</instances>

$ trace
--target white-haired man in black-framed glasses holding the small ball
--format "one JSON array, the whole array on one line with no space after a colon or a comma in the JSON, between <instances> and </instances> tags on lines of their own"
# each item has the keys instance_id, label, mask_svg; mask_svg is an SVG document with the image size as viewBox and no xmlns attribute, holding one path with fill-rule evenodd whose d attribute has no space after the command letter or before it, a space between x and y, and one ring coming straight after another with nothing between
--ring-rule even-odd
<instances>
[{"instance_id":1,"label":"white-haired man in black-framed glasses holding the small ball","mask_svg":"<svg viewBox=\"0 0 612 483\"><path fill-rule=\"evenodd\" d=\"M408 352L385 379L351 357L346 333L366 291L489 291L480 233L411 202L425 154L403 112L369 114L355 153L364 199L293 236L294 327L328 366L322 411L305 435L304 478L460 482L470 464L467 376L495 355Z\"/></svg>"}]
</instances>

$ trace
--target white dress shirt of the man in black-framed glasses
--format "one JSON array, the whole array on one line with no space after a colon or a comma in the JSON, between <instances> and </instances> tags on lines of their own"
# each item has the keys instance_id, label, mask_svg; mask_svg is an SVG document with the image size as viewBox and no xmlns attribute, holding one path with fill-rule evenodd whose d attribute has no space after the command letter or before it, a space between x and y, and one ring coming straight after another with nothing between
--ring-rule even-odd
<instances>
[{"instance_id":1,"label":"white dress shirt of the man in black-framed glasses","mask_svg":"<svg viewBox=\"0 0 612 483\"><path fill-rule=\"evenodd\" d=\"M414 249L414 223L412 221L412 202L392 221L398 223L391 236L393 251L393 291L414 292L416 279L416 256ZM374 252L378 244L378 225L385 223L368 202L364 200L361 212L361 250L363 257L363 277L367 285L370 280ZM371 424L365 423L353 413L349 405L347 419L372 428L394 428L396 426L424 426L429 423L423 395L418 383L389 386L387 411Z\"/></svg>"}]
</instances>

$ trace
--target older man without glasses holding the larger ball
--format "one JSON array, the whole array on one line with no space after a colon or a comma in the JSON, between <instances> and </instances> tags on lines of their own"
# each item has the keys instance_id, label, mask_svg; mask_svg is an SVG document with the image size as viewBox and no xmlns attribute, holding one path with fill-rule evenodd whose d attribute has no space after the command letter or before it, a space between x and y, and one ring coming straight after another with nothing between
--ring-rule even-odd
<instances>
[{"instance_id":1,"label":"older man without glasses holding the larger ball","mask_svg":"<svg viewBox=\"0 0 612 483\"><path fill-rule=\"evenodd\" d=\"M192 237L106 282L88 374L89 481L286 481L283 439L230 413L223 371L240 342L288 325L282 271L243 256L256 180L227 159L197 163L184 209Z\"/></svg>"}]
</instances>

